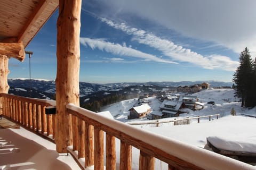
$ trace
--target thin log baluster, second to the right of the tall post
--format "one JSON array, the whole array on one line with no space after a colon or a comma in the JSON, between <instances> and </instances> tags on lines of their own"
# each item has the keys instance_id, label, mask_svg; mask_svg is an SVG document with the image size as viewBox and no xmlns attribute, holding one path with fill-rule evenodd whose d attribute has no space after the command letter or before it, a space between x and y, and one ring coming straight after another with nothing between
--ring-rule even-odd
<instances>
[{"instance_id":1,"label":"thin log baluster, second to the right of the tall post","mask_svg":"<svg viewBox=\"0 0 256 170\"><path fill-rule=\"evenodd\" d=\"M85 157L85 137L84 137L84 121L80 118L77 119L77 126L78 126L78 159Z\"/></svg>"}]
</instances>

